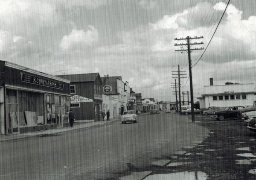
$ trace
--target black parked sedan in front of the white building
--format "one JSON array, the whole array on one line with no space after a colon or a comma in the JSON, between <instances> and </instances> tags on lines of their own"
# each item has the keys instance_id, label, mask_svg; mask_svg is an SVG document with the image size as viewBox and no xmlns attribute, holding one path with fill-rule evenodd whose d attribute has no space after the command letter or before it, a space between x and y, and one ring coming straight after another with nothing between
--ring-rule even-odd
<instances>
[{"instance_id":1,"label":"black parked sedan in front of the white building","mask_svg":"<svg viewBox=\"0 0 256 180\"><path fill-rule=\"evenodd\" d=\"M244 106L225 107L222 111L213 112L211 118L215 118L216 120L237 119L241 116L239 110L243 108Z\"/></svg>"}]
</instances>

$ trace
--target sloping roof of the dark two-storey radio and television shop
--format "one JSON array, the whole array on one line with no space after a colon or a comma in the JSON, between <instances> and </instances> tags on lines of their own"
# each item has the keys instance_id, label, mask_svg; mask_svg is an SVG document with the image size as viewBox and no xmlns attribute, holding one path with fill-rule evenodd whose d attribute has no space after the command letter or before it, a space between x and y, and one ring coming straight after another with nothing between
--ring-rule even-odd
<instances>
[{"instance_id":1,"label":"sloping roof of the dark two-storey radio and television shop","mask_svg":"<svg viewBox=\"0 0 256 180\"><path fill-rule=\"evenodd\" d=\"M99 73L88 73L88 74L67 74L58 75L59 77L69 79L71 82L92 82L95 81Z\"/></svg>"}]
</instances>

